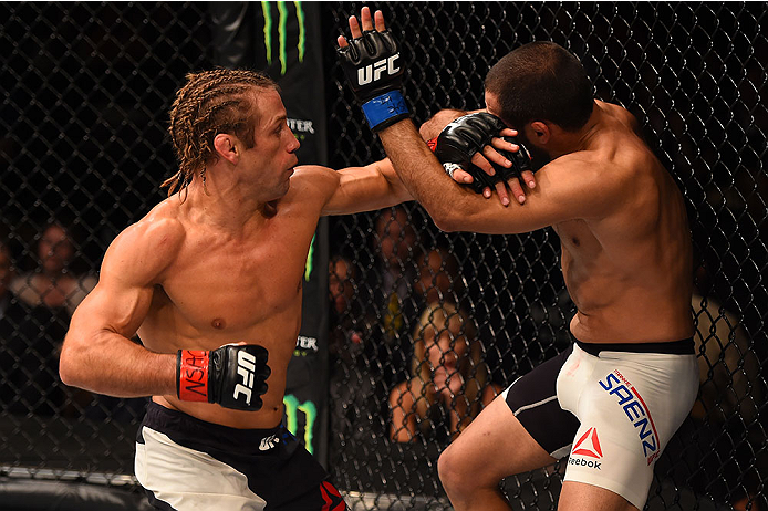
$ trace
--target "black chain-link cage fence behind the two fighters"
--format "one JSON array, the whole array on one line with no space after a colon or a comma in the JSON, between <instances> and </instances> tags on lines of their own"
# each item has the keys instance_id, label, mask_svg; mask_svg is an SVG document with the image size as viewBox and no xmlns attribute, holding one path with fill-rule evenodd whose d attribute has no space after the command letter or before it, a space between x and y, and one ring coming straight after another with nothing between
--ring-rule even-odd
<instances>
[{"instance_id":1,"label":"black chain-link cage fence behind the two fighters","mask_svg":"<svg viewBox=\"0 0 768 511\"><path fill-rule=\"evenodd\" d=\"M383 156L333 53L361 7L323 3L335 168ZM373 7L402 34L417 123L444 107L481 107L487 70L533 40L571 50L596 96L639 118L688 207L700 368L699 398L657 463L646 508L768 509L768 4ZM184 75L210 65L207 4L3 2L0 20L3 505L32 509L12 491L34 494L49 482L136 493L133 441L146 401L63 386L58 351L108 242L163 198L158 185L175 168L168 107ZM330 231L333 480L354 509L450 509L436 462L457 429L457 400L412 407L403 382L429 377L414 359L430 334L455 328L471 354L463 396L471 418L494 392L563 351L573 305L558 239L550 229L444 233L414 204L333 218ZM516 510L556 509L563 470L556 463L502 488Z\"/></svg>"}]
</instances>

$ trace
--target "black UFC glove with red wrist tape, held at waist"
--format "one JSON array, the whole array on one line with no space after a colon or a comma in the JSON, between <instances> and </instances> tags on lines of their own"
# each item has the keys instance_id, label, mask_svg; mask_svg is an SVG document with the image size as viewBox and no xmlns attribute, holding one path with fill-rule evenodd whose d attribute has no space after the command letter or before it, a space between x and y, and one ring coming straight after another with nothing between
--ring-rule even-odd
<instances>
[{"instance_id":1,"label":"black UFC glove with red wrist tape, held at waist","mask_svg":"<svg viewBox=\"0 0 768 511\"><path fill-rule=\"evenodd\" d=\"M181 400L216 403L225 408L256 411L263 405L268 352L255 344L227 344L212 352L179 350L176 395Z\"/></svg>"}]
</instances>

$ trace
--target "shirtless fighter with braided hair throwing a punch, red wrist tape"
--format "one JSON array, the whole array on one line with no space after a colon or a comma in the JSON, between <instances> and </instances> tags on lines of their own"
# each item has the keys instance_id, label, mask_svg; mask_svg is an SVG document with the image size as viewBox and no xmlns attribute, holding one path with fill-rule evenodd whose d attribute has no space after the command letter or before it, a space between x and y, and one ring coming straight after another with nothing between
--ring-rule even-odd
<instances>
[{"instance_id":1,"label":"shirtless fighter with braided hair throwing a punch, red wrist tape","mask_svg":"<svg viewBox=\"0 0 768 511\"><path fill-rule=\"evenodd\" d=\"M388 160L295 167L277 84L255 72L190 74L170 135L180 166L169 196L107 249L61 378L153 396L135 469L157 509L343 510L281 425L304 263L321 216L411 196Z\"/></svg>"}]
</instances>

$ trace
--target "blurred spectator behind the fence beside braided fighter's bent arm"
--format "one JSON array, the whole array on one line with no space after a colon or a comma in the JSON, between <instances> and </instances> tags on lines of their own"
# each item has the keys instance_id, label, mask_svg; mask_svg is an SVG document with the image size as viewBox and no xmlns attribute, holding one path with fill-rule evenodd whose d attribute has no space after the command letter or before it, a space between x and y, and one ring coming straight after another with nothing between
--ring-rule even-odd
<instances>
[{"instance_id":1,"label":"blurred spectator behind the fence beside braided fighter's bent arm","mask_svg":"<svg viewBox=\"0 0 768 511\"><path fill-rule=\"evenodd\" d=\"M11 290L30 305L64 307L72 315L96 285L93 275L72 274L70 264L75 252L68 229L58 222L49 223L38 240L38 270L14 279Z\"/></svg>"}]
</instances>

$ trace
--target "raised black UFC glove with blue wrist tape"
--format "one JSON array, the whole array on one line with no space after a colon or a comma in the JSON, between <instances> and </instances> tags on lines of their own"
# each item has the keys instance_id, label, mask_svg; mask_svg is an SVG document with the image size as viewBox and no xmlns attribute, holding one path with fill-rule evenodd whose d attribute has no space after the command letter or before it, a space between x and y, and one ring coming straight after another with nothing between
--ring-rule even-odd
<instances>
[{"instance_id":1,"label":"raised black UFC glove with blue wrist tape","mask_svg":"<svg viewBox=\"0 0 768 511\"><path fill-rule=\"evenodd\" d=\"M366 30L347 42L347 46L336 49L339 62L371 129L377 132L408 117L399 92L403 66L392 32Z\"/></svg>"}]
</instances>

